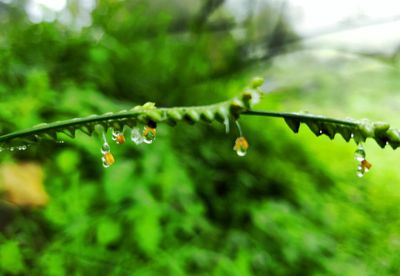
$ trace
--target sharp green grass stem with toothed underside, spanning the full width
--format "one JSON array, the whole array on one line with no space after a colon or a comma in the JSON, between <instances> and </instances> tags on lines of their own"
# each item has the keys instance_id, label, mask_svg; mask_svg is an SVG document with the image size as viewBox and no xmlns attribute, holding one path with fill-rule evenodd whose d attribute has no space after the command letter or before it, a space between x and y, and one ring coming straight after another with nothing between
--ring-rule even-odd
<instances>
[{"instance_id":1,"label":"sharp green grass stem with toothed underside, spanning the full width","mask_svg":"<svg viewBox=\"0 0 400 276\"><path fill-rule=\"evenodd\" d=\"M324 134L333 139L339 133L346 141L353 139L357 144L364 142L367 138L372 138L382 148L387 144L390 144L393 149L400 146L400 131L390 128L387 123L353 119L340 120L309 113L252 110L252 105L263 93L260 89L262 83L262 79L256 78L240 96L211 105L157 108L154 103L146 103L117 113L44 123L2 135L0 136L0 145L7 147L14 144L33 143L47 138L58 139L61 133L74 138L77 130L92 135L95 131L100 132L109 128L123 131L126 127L133 128L138 124L168 123L175 125L179 121L186 121L190 124L200 121L225 123L229 119L237 120L241 115L251 115L283 118L295 133L299 131L301 124L305 124L316 136Z\"/></svg>"}]
</instances>

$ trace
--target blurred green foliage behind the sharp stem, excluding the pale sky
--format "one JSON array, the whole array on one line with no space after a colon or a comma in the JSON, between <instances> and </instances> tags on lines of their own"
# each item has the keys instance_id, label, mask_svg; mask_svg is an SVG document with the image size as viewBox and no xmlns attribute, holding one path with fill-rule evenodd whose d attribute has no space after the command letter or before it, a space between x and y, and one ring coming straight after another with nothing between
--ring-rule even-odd
<instances>
[{"instance_id":1,"label":"blurred green foliage behind the sharp stem, excluding the pale sky","mask_svg":"<svg viewBox=\"0 0 400 276\"><path fill-rule=\"evenodd\" d=\"M223 2L99 0L86 25L79 1L68 24L0 2L0 133L147 101L214 103L255 75L289 87L257 109L400 126L398 59L307 49L278 6L238 26ZM398 275L398 154L367 142L373 168L360 179L353 142L240 122L244 158L219 124L112 144L108 169L101 139L82 133L4 150L0 274Z\"/></svg>"}]
</instances>

